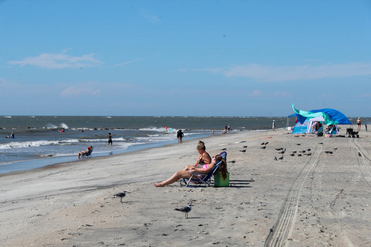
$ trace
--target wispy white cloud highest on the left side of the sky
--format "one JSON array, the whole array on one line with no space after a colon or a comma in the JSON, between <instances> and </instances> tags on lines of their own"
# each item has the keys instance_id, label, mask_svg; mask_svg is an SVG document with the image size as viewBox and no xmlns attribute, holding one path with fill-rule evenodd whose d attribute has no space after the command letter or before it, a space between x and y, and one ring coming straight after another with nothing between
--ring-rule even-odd
<instances>
[{"instance_id":1,"label":"wispy white cloud highest on the left side of the sky","mask_svg":"<svg viewBox=\"0 0 371 247\"><path fill-rule=\"evenodd\" d=\"M82 68L102 64L102 61L94 58L94 53L85 54L81 57L73 57L65 54L68 49L59 54L43 53L37 57L26 57L21 61L8 61L9 64L18 64L19 67L33 65L46 69Z\"/></svg>"}]
</instances>

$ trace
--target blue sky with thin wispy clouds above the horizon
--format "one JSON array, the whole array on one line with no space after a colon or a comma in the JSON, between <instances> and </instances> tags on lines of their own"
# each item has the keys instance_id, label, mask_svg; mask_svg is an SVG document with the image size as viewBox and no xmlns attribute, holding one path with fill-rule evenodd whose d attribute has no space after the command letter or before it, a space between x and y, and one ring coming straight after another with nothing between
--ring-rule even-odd
<instances>
[{"instance_id":1,"label":"blue sky with thin wispy clouds above the horizon","mask_svg":"<svg viewBox=\"0 0 371 247\"><path fill-rule=\"evenodd\" d=\"M0 1L0 115L370 116L370 27L370 1Z\"/></svg>"}]
</instances>

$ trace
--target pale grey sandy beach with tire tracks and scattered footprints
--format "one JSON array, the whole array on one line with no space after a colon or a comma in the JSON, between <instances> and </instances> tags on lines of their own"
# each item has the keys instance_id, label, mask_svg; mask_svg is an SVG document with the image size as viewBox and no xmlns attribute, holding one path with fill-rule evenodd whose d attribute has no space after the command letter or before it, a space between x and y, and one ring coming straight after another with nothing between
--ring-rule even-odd
<instances>
[{"instance_id":1,"label":"pale grey sandy beach with tire tracks and scattered footprints","mask_svg":"<svg viewBox=\"0 0 371 247\"><path fill-rule=\"evenodd\" d=\"M228 163L229 187L153 186L196 162L198 140L1 174L0 245L371 246L368 132L286 133L203 138L210 155L226 147L227 160L236 159ZM280 147L283 161L273 160ZM289 155L307 148L311 156ZM124 190L120 203L113 195ZM188 203L194 206L186 219L174 208Z\"/></svg>"}]
</instances>

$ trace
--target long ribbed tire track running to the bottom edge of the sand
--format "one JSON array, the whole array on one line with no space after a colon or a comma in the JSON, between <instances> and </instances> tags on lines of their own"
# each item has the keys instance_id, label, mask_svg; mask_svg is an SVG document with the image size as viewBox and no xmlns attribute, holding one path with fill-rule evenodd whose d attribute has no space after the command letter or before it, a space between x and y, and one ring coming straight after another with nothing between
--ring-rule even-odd
<instances>
[{"instance_id":1,"label":"long ribbed tire track running to the bottom edge of the sand","mask_svg":"<svg viewBox=\"0 0 371 247\"><path fill-rule=\"evenodd\" d=\"M271 229L271 232L267 237L267 240L264 244L265 247L278 247L285 245L292 223L295 219L296 212L298 211L298 201L301 187L309 172L317 163L321 151L322 145L318 144L316 151L312 154L312 158L308 161L298 178L296 178L295 182L293 183L288 196L286 197L285 203L283 204L283 207L278 215L277 223L275 226L273 226L273 229Z\"/></svg>"}]
</instances>

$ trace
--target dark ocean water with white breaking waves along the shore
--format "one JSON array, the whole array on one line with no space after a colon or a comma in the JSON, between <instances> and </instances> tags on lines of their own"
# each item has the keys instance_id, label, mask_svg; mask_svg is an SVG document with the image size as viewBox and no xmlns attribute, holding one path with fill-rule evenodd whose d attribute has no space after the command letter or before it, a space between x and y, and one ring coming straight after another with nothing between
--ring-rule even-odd
<instances>
[{"instance_id":1,"label":"dark ocean water with white breaking waves along the shore","mask_svg":"<svg viewBox=\"0 0 371 247\"><path fill-rule=\"evenodd\" d=\"M286 127L287 117L0 116L0 173L74 161L90 145L93 156L105 156L177 143L179 129L187 141L220 134L226 124L232 132L271 129L273 120ZM5 138L12 132L14 139Z\"/></svg>"}]
</instances>

